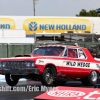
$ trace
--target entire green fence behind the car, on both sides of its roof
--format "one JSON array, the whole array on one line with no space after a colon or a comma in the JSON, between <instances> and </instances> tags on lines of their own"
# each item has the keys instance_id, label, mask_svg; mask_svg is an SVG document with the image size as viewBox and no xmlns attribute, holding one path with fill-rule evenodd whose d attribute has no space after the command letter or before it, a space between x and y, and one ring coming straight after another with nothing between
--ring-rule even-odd
<instances>
[{"instance_id":1,"label":"entire green fence behind the car, on both sides of its roof","mask_svg":"<svg viewBox=\"0 0 100 100\"><path fill-rule=\"evenodd\" d=\"M60 45L74 45L75 42L60 43ZM80 47L90 48L91 46L96 46L100 44L99 42L89 43L89 42L78 42ZM46 44L0 44L0 58L14 57L20 54L31 54L35 47L38 45ZM47 45L53 45L53 43L48 43ZM57 45L57 44L56 44Z\"/></svg>"}]
</instances>

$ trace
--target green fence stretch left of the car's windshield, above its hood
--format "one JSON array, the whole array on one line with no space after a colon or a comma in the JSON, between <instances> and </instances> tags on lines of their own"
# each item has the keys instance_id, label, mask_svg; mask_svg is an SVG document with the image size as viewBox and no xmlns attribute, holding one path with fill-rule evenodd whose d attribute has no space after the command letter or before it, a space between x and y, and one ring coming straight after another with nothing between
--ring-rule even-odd
<instances>
[{"instance_id":1,"label":"green fence stretch left of the car's windshield, above its hood","mask_svg":"<svg viewBox=\"0 0 100 100\"><path fill-rule=\"evenodd\" d=\"M0 58L30 54L38 44L0 44Z\"/></svg>"}]
</instances>

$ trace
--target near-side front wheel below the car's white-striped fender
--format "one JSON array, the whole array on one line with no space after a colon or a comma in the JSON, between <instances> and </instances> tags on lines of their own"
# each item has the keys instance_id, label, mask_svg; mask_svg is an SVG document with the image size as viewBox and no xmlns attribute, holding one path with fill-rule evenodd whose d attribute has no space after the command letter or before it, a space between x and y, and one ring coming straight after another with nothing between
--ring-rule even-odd
<instances>
[{"instance_id":1,"label":"near-side front wheel below the car's white-striped fender","mask_svg":"<svg viewBox=\"0 0 100 100\"><path fill-rule=\"evenodd\" d=\"M45 68L41 75L41 82L43 85L51 86L53 83L54 73L49 67Z\"/></svg>"}]
</instances>

